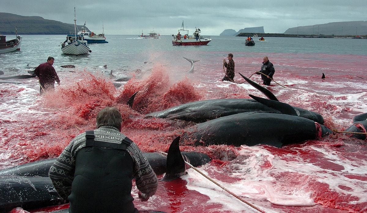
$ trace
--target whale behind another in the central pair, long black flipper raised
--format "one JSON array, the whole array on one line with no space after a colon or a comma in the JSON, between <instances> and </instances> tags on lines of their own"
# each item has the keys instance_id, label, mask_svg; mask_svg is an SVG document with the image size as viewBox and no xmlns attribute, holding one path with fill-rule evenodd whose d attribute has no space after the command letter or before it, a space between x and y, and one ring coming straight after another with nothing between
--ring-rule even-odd
<instances>
[{"instance_id":1,"label":"whale behind another in the central pair, long black flipper raised","mask_svg":"<svg viewBox=\"0 0 367 213\"><path fill-rule=\"evenodd\" d=\"M243 76L244 77L244 76ZM206 122L215 118L228 115L245 113L251 111L262 111L269 113L283 113L308 118L319 124L324 124L324 118L316 112L299 107L290 106L279 102L275 95L268 89L258 85L256 82L244 77L253 87L261 91L268 99L250 96L252 99L212 99L201 100L181 104L166 110L146 114L145 117L157 117L167 119L178 119L193 121L197 123ZM255 99L254 99L255 98Z\"/></svg>"}]
</instances>

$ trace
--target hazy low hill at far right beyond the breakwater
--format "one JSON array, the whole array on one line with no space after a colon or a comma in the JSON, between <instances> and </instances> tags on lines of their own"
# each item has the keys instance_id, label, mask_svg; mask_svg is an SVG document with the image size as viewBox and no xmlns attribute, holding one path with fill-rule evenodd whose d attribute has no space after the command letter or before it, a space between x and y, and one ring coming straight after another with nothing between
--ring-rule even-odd
<instances>
[{"instance_id":1,"label":"hazy low hill at far right beyond the breakwater","mask_svg":"<svg viewBox=\"0 0 367 213\"><path fill-rule=\"evenodd\" d=\"M286 30L284 34L367 35L367 21L330 22L320 25L292 27Z\"/></svg>"}]
</instances>

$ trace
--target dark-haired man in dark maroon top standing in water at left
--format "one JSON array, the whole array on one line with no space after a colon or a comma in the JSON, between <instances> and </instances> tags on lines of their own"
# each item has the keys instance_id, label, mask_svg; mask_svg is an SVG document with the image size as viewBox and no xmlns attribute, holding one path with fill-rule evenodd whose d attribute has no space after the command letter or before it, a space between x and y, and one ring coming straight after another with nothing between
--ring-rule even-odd
<instances>
[{"instance_id":1,"label":"dark-haired man in dark maroon top standing in water at left","mask_svg":"<svg viewBox=\"0 0 367 213\"><path fill-rule=\"evenodd\" d=\"M55 81L60 85L60 79L57 75L54 65L54 57L49 56L46 63L40 64L34 70L34 74L39 78L40 83L40 94L48 90L55 89Z\"/></svg>"}]
</instances>

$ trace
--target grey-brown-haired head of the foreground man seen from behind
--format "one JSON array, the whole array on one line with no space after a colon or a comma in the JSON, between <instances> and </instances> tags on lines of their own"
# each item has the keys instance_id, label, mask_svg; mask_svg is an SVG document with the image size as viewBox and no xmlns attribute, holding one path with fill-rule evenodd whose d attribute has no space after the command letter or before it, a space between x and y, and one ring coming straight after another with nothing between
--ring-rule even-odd
<instances>
[{"instance_id":1,"label":"grey-brown-haired head of the foreground man seen from behind","mask_svg":"<svg viewBox=\"0 0 367 213\"><path fill-rule=\"evenodd\" d=\"M115 107L105 107L97 114L96 118L97 129L101 126L113 126L117 129L121 129L121 114Z\"/></svg>"}]
</instances>

